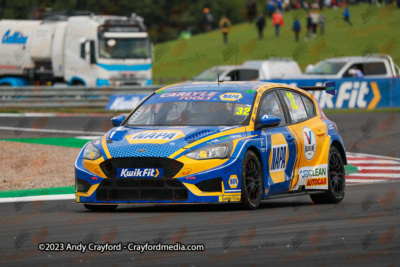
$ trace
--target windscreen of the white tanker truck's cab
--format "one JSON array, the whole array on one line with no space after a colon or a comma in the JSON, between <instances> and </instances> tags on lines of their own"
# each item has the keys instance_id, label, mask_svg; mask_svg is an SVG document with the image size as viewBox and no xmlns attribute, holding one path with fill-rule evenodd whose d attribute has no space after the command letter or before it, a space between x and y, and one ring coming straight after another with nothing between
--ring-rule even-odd
<instances>
[{"instance_id":1,"label":"windscreen of the white tanker truck's cab","mask_svg":"<svg viewBox=\"0 0 400 267\"><path fill-rule=\"evenodd\" d=\"M150 43L146 38L99 38L100 58L150 58Z\"/></svg>"}]
</instances>

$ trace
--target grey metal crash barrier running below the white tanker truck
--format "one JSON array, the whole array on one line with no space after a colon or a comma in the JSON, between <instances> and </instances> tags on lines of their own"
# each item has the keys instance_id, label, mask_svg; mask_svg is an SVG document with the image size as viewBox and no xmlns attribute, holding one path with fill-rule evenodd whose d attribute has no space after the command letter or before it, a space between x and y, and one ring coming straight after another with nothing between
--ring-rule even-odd
<instances>
[{"instance_id":1,"label":"grey metal crash barrier running below the white tanker truck","mask_svg":"<svg viewBox=\"0 0 400 267\"><path fill-rule=\"evenodd\" d=\"M161 87L0 86L0 108L104 108L111 95L151 94Z\"/></svg>"}]
</instances>

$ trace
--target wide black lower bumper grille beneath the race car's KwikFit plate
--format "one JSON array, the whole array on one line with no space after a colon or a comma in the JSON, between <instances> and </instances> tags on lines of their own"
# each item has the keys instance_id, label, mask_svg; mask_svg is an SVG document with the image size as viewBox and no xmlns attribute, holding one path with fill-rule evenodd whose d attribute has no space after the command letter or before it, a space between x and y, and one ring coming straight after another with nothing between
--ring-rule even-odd
<instances>
[{"instance_id":1,"label":"wide black lower bumper grille beneath the race car's KwikFit plate","mask_svg":"<svg viewBox=\"0 0 400 267\"><path fill-rule=\"evenodd\" d=\"M104 179L96 191L98 201L187 200L188 190L177 179Z\"/></svg>"}]
</instances>

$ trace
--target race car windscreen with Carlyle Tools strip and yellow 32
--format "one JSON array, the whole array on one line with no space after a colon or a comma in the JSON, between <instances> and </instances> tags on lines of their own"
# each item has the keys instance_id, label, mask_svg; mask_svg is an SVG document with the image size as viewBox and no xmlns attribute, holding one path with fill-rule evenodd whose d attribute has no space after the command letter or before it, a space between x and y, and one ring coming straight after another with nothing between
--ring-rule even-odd
<instances>
[{"instance_id":1,"label":"race car windscreen with Carlyle Tools strip and yellow 32","mask_svg":"<svg viewBox=\"0 0 400 267\"><path fill-rule=\"evenodd\" d=\"M125 126L248 125L255 93L166 92L154 94Z\"/></svg>"}]
</instances>

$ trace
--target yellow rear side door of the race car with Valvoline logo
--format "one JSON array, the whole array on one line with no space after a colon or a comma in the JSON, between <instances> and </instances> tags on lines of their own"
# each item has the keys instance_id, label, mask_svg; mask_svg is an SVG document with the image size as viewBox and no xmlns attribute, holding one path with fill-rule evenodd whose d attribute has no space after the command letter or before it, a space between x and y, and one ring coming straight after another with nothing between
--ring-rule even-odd
<instances>
[{"instance_id":1,"label":"yellow rear side door of the race car with Valvoline logo","mask_svg":"<svg viewBox=\"0 0 400 267\"><path fill-rule=\"evenodd\" d=\"M280 95L288 109L288 129L298 141L295 176L291 190L327 189L327 162L330 137L327 126L317 116L316 106L311 98L294 91L281 90Z\"/></svg>"}]
</instances>

